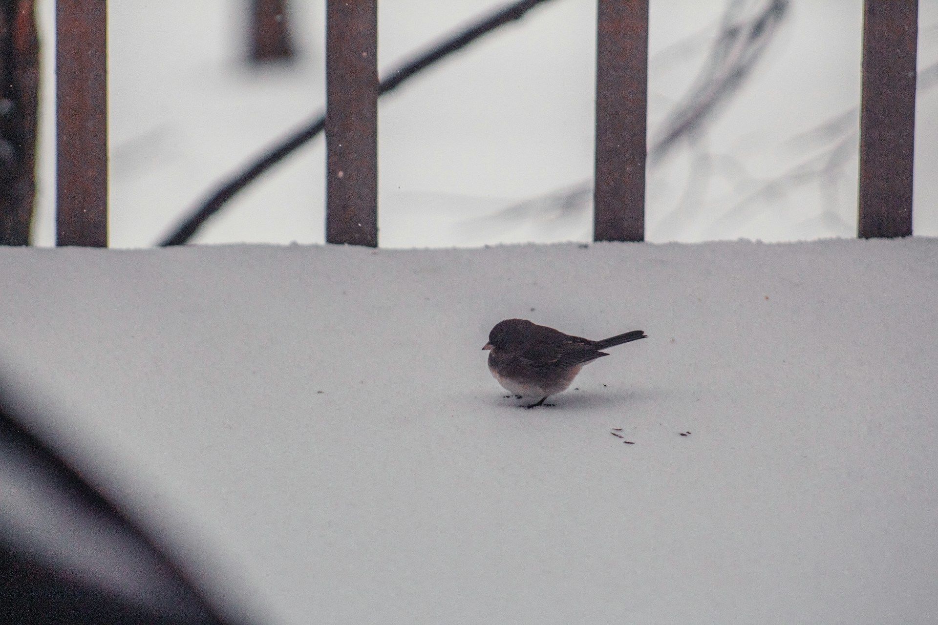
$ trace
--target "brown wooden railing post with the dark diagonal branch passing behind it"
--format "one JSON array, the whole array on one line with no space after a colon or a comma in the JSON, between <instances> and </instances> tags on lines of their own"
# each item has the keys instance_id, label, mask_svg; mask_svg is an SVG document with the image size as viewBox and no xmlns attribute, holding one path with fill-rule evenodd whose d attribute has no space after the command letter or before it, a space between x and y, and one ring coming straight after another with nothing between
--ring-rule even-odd
<instances>
[{"instance_id":1,"label":"brown wooden railing post with the dark diagonal branch passing behind it","mask_svg":"<svg viewBox=\"0 0 938 625\"><path fill-rule=\"evenodd\" d=\"M325 241L376 247L378 2L325 7Z\"/></svg>"}]
</instances>

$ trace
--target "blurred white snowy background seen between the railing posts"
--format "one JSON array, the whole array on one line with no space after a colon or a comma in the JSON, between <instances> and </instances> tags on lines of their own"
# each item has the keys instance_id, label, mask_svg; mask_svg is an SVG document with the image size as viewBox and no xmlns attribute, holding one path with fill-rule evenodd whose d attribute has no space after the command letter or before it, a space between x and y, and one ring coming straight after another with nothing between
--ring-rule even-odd
<instances>
[{"instance_id":1,"label":"blurred white snowy background seen between the railing posts","mask_svg":"<svg viewBox=\"0 0 938 625\"><path fill-rule=\"evenodd\" d=\"M379 68L503 4L380 3ZM691 88L727 4L651 3L653 140ZM48 60L53 2L38 5ZM264 69L243 63L247 6L111 3L112 246L153 245L220 179L321 111L324 3L294 0L301 56L293 66ZM650 171L649 240L855 235L857 114L851 111L859 102L861 9L859 0L792 0L756 71L698 148L682 147ZM938 1L920 3L919 22L924 68L938 61ZM595 56L595 1L553 0L383 98L381 245L589 240L588 193L572 211L539 200L588 185L592 176ZM36 232L39 244L52 245L52 64L44 76ZM923 235L938 234L938 183L930 175L938 167L935 91L923 89L917 105L914 215L915 233ZM812 134L839 119L833 137ZM845 141L840 153L828 154L839 141ZM839 159L836 171L798 180L799 171L828 156ZM322 242L324 158L323 138L312 141L196 240ZM764 189L779 178L789 182Z\"/></svg>"}]
</instances>

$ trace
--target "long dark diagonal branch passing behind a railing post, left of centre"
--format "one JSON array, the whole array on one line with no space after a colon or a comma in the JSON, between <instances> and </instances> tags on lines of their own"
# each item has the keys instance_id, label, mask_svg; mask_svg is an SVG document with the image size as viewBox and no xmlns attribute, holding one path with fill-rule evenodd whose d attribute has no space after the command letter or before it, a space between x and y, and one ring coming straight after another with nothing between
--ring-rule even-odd
<instances>
[{"instance_id":1,"label":"long dark diagonal branch passing behind a railing post, left of centre","mask_svg":"<svg viewBox=\"0 0 938 625\"><path fill-rule=\"evenodd\" d=\"M461 50L478 37L492 32L492 30L499 26L521 19L529 10L547 1L548 0L522 0L522 2L513 3L491 16L482 18L456 35L447 38L430 51L424 52L416 56L413 60L403 63L397 69L390 71L387 78L383 80L378 87L379 95L384 95L396 89L401 83L407 81L407 79L413 77L421 70L430 67L447 55ZM226 183L220 186L207 200L202 202L198 208L186 217L182 224L178 226L172 234L167 236L159 246L181 246L188 243L205 221L215 216L221 207L224 206L227 201L231 200L235 194L280 162L283 157L289 155L307 141L310 141L310 139L322 132L324 128L325 115L321 115L307 126L295 132L295 134L277 143L273 148L268 150L263 156L254 160L242 171L235 173Z\"/></svg>"}]
</instances>

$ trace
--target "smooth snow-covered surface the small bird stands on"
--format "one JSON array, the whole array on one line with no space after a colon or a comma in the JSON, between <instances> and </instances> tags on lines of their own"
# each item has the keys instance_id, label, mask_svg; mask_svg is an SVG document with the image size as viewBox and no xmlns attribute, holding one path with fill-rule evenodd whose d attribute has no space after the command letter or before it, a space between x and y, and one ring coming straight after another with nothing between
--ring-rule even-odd
<instances>
[{"instance_id":1,"label":"smooth snow-covered surface the small bird stands on","mask_svg":"<svg viewBox=\"0 0 938 625\"><path fill-rule=\"evenodd\" d=\"M60 408L35 425L263 622L932 623L936 260L6 248L0 353ZM650 338L526 410L480 350L507 317Z\"/></svg>"}]
</instances>

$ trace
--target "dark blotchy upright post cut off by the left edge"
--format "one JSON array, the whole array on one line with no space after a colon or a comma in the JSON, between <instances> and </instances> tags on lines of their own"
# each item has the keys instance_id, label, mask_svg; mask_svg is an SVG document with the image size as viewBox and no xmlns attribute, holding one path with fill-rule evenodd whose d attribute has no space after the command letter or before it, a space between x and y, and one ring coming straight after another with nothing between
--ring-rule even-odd
<instances>
[{"instance_id":1,"label":"dark blotchy upright post cut off by the left edge","mask_svg":"<svg viewBox=\"0 0 938 625\"><path fill-rule=\"evenodd\" d=\"M0 246L29 245L36 196L38 51L33 0L0 2Z\"/></svg>"}]
</instances>

